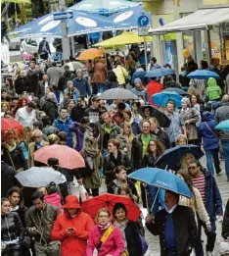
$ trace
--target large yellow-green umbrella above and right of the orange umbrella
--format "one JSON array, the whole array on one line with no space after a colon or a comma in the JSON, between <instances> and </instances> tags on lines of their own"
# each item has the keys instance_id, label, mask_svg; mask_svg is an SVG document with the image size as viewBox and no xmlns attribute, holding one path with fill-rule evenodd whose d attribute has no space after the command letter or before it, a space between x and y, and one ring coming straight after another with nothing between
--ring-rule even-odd
<instances>
[{"instance_id":1,"label":"large yellow-green umbrella above and right of the orange umbrella","mask_svg":"<svg viewBox=\"0 0 229 256\"><path fill-rule=\"evenodd\" d=\"M153 41L153 38L151 36L146 36L146 41L151 42ZM139 36L137 33L134 33L134 32L123 32L113 38L110 38L103 42L99 42L94 46L111 47L114 45L141 43L141 42L144 42L144 36Z\"/></svg>"}]
</instances>

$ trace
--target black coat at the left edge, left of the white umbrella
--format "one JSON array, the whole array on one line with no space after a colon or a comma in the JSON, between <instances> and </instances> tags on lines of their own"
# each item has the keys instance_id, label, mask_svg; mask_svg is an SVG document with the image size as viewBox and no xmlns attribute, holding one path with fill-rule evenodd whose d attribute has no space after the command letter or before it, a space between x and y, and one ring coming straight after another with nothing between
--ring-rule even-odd
<instances>
[{"instance_id":1,"label":"black coat at the left edge, left of the white umbrella","mask_svg":"<svg viewBox=\"0 0 229 256\"><path fill-rule=\"evenodd\" d=\"M19 181L15 178L17 175L15 169L7 163L1 162L1 194L2 197L7 196L12 186L18 185Z\"/></svg>"}]
</instances>

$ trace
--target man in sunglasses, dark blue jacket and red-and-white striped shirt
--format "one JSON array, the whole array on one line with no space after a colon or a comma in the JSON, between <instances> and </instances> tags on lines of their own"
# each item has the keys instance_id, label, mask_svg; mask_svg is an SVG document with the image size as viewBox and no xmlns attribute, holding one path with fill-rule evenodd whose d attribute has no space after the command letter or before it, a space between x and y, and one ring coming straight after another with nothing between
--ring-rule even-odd
<instances>
[{"instance_id":1,"label":"man in sunglasses, dark blue jacket and red-and-white striped shirt","mask_svg":"<svg viewBox=\"0 0 229 256\"><path fill-rule=\"evenodd\" d=\"M203 202L206 206L206 212L210 219L211 230L206 229L206 224L198 218L198 231L199 239L201 240L201 230L204 227L207 237L206 242L206 255L211 256L214 249L214 243L216 238L216 215L222 216L222 198L218 190L218 186L214 177L202 168L201 163L198 160L192 160L189 164L189 173L192 177L193 185L196 186L202 195ZM203 255L203 246L201 242L198 243L196 249L196 255Z\"/></svg>"}]
</instances>

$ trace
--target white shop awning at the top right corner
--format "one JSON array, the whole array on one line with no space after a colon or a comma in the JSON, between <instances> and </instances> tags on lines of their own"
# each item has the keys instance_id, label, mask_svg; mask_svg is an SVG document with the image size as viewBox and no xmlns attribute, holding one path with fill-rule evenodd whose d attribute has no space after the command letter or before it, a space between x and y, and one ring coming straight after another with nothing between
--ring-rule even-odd
<instances>
[{"instance_id":1,"label":"white shop awning at the top right corner","mask_svg":"<svg viewBox=\"0 0 229 256\"><path fill-rule=\"evenodd\" d=\"M150 34L179 32L186 30L205 30L208 26L229 21L229 7L201 9L173 23L150 29Z\"/></svg>"}]
</instances>

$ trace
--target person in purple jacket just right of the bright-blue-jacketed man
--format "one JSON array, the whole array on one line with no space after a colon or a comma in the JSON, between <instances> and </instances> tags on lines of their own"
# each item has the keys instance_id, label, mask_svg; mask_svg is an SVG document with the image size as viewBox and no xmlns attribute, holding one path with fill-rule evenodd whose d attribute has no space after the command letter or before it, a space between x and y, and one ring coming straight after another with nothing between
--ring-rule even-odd
<instances>
[{"instance_id":1,"label":"person in purple jacket just right of the bright-blue-jacketed man","mask_svg":"<svg viewBox=\"0 0 229 256\"><path fill-rule=\"evenodd\" d=\"M90 120L88 117L84 117L80 120L80 123L73 122L69 126L69 130L75 133L75 149L80 151L84 147L85 138L91 132L89 127Z\"/></svg>"}]
</instances>

